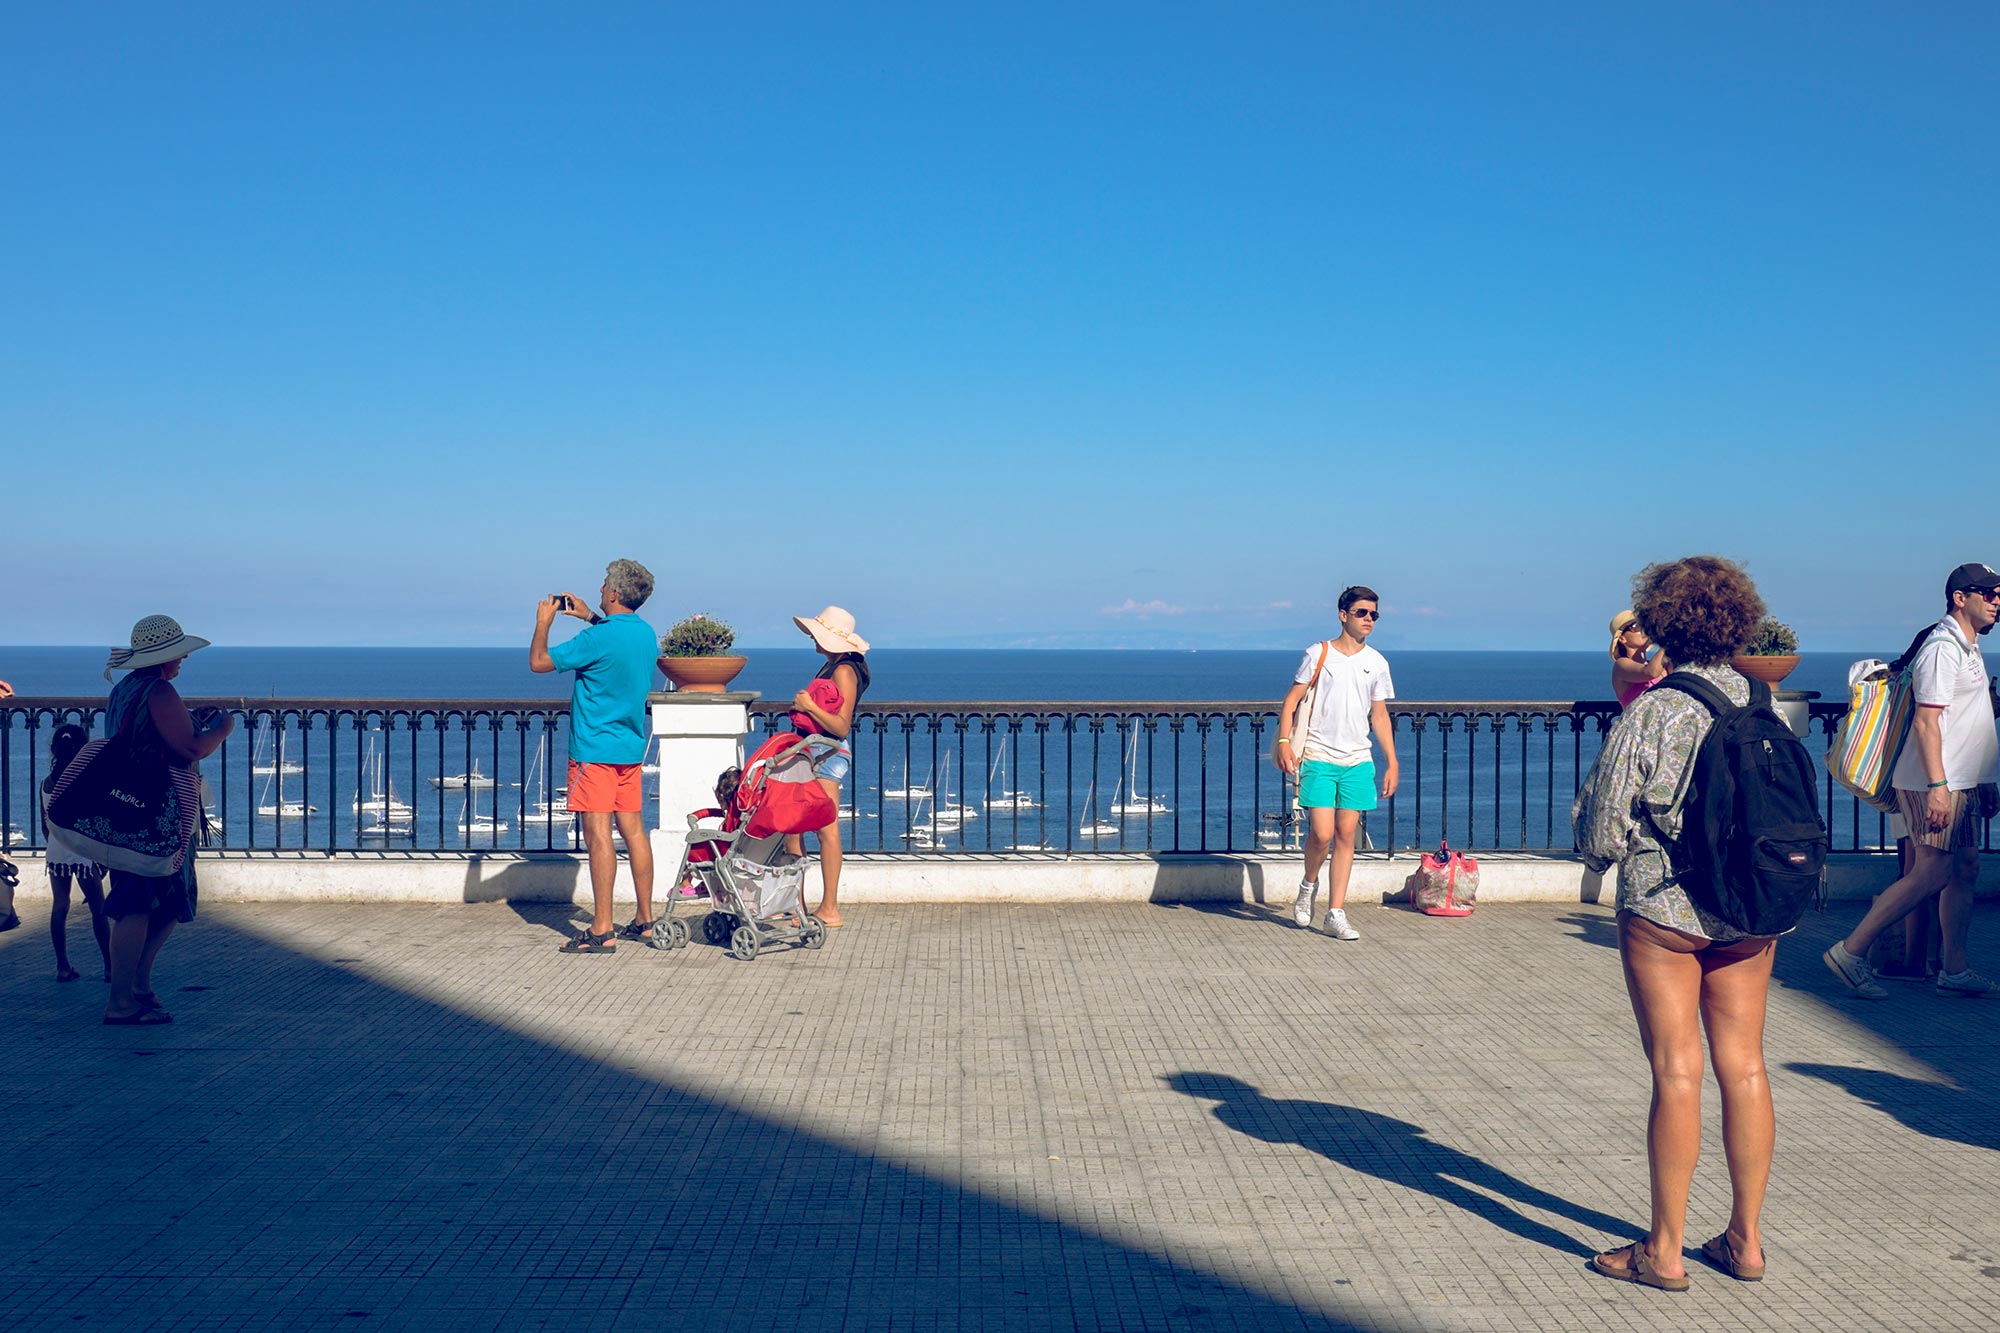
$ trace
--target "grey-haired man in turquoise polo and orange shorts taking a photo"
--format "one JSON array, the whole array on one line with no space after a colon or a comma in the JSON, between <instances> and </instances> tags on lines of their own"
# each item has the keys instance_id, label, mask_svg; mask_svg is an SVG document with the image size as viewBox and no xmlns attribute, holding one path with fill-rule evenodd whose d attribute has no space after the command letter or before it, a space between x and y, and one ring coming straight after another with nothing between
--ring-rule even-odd
<instances>
[{"instance_id":1,"label":"grey-haired man in turquoise polo and orange shorts taking a photo","mask_svg":"<svg viewBox=\"0 0 2000 1333\"><path fill-rule=\"evenodd\" d=\"M578 931L562 953L614 953L620 931L612 925L612 885L618 847L612 821L632 857L632 891L638 913L626 939L652 929L652 841L640 813L640 763L646 759L646 693L652 691L660 638L638 618L652 596L652 572L638 560L612 560L592 612L584 598L558 592L534 608L528 666L540 673L574 671L570 689L570 813L584 823L590 851L590 929ZM548 646L548 626L558 612L588 620L568 642Z\"/></svg>"}]
</instances>

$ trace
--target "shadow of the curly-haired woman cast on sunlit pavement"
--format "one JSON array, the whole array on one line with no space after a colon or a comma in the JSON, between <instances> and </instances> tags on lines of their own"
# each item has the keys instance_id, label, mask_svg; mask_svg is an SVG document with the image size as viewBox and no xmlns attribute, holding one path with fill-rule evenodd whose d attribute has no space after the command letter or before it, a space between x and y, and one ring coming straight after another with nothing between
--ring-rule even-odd
<instances>
[{"instance_id":1,"label":"shadow of the curly-haired woman cast on sunlit pavement","mask_svg":"<svg viewBox=\"0 0 2000 1333\"><path fill-rule=\"evenodd\" d=\"M1296 1143L1350 1171L1422 1191L1438 1203L1484 1217L1504 1231L1564 1255L1590 1255L1600 1247L1568 1237L1478 1191L1556 1213L1592 1231L1632 1235L1632 1223L1528 1185L1478 1157L1430 1139L1422 1125L1410 1121L1330 1101L1264 1097L1256 1085L1232 1075L1184 1071L1162 1075L1162 1081L1186 1097L1220 1103L1214 1117L1240 1135L1264 1143Z\"/></svg>"}]
</instances>

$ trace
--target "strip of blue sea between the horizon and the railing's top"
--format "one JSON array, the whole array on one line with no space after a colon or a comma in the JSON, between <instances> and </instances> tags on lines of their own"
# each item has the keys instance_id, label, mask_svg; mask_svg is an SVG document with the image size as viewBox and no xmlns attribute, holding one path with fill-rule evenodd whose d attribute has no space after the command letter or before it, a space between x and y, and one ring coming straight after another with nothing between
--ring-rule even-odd
<instances>
[{"instance_id":1,"label":"strip of blue sea between the horizon and the railing's top","mask_svg":"<svg viewBox=\"0 0 2000 1333\"><path fill-rule=\"evenodd\" d=\"M1300 644L1300 650L1304 644ZM1902 644L1888 644L1884 656ZM878 648L870 701L1272 701L1300 650ZM820 666L810 648L746 648L736 689L790 699ZM1390 652L1398 699L1610 699L1602 652ZM1846 693L1850 652L1808 652L1788 689ZM104 648L0 648L18 695L104 695ZM522 648L204 648L180 691L202 699L568 699L564 675L528 671Z\"/></svg>"}]
</instances>

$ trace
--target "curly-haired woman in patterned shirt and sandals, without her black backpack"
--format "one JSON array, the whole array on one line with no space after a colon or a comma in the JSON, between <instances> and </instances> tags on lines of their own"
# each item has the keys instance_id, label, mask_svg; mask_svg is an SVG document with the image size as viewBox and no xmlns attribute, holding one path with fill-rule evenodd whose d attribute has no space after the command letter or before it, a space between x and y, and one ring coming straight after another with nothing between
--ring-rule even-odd
<instances>
[{"instance_id":1,"label":"curly-haired woman in patterned shirt and sandals, without her black backpack","mask_svg":"<svg viewBox=\"0 0 2000 1333\"><path fill-rule=\"evenodd\" d=\"M1730 656L1750 642L1764 598L1738 564L1716 556L1648 564L1632 580L1632 610L1678 671L1708 681L1736 707L1750 703L1750 683ZM1764 1073L1764 1001L1776 943L1706 913L1674 881L1666 853L1680 837L1676 799L1712 721L1690 695L1646 691L1604 741L1572 811L1576 847L1590 869L1618 865L1618 957L1652 1065L1652 1227L1590 1265L1664 1291L1688 1289L1682 1229L1702 1147L1704 1025L1722 1087L1732 1203L1728 1227L1702 1245L1702 1257L1738 1281L1764 1277L1758 1217L1776 1137Z\"/></svg>"}]
</instances>

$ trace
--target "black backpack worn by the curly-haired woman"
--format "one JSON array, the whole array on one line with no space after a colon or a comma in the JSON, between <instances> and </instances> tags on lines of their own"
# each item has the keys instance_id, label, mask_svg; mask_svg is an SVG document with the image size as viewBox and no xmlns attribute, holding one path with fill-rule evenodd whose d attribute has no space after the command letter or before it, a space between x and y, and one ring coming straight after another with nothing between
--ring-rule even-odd
<instances>
[{"instance_id":1,"label":"black backpack worn by the curly-haired woman","mask_svg":"<svg viewBox=\"0 0 2000 1333\"><path fill-rule=\"evenodd\" d=\"M1696 907L1746 935L1790 931L1820 895L1828 849L1806 747L1770 711L1762 681L1742 709L1686 671L1654 689L1690 695L1716 719L1694 751L1680 839L1668 847L1674 877Z\"/></svg>"}]
</instances>

